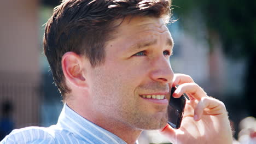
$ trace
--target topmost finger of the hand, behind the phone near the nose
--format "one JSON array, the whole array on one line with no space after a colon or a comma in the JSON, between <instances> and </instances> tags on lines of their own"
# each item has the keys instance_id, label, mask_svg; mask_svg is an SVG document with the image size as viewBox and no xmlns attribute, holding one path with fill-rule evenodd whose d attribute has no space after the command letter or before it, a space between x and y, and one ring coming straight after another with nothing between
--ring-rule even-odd
<instances>
[{"instance_id":1,"label":"topmost finger of the hand, behind the phone near the nose","mask_svg":"<svg viewBox=\"0 0 256 144\"><path fill-rule=\"evenodd\" d=\"M182 83L190 83L190 82L194 82L194 80L189 75L174 74L172 87L175 87L176 85L181 85Z\"/></svg>"}]
</instances>

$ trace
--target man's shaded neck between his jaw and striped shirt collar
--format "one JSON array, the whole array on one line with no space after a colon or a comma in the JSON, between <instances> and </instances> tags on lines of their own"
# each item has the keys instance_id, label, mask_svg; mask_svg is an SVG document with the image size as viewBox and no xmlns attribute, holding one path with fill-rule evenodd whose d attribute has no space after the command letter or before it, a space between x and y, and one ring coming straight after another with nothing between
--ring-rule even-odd
<instances>
[{"instance_id":1,"label":"man's shaded neck between his jaw and striped shirt collar","mask_svg":"<svg viewBox=\"0 0 256 144\"><path fill-rule=\"evenodd\" d=\"M67 103L67 105L80 116L86 118L88 121L98 125L99 127L108 130L110 133L117 135L127 144L134 144L137 141L139 135L141 135L142 130L132 128L129 125L117 121L113 118L98 115L97 112L94 112L91 109L86 109L86 106L84 106L82 109L79 109L79 107L76 107L75 105L69 103Z\"/></svg>"}]
</instances>

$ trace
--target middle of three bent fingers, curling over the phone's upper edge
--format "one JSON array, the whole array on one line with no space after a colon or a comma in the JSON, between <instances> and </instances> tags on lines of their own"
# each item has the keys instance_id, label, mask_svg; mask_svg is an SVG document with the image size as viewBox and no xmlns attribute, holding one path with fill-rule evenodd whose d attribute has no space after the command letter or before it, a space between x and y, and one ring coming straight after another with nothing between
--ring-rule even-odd
<instances>
[{"instance_id":1,"label":"middle of three bent fingers, curling over the phone's upper edge","mask_svg":"<svg viewBox=\"0 0 256 144\"><path fill-rule=\"evenodd\" d=\"M183 83L172 94L174 98L179 98L183 93L187 93L189 99L200 100L202 97L207 97L207 94L196 83Z\"/></svg>"}]
</instances>

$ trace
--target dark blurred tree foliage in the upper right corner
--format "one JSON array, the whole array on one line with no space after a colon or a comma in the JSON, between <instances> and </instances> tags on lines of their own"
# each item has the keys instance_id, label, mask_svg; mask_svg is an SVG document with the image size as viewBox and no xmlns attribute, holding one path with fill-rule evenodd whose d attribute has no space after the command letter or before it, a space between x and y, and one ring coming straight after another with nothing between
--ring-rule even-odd
<instances>
[{"instance_id":1,"label":"dark blurred tree foliage in the upper right corner","mask_svg":"<svg viewBox=\"0 0 256 144\"><path fill-rule=\"evenodd\" d=\"M243 93L245 103L242 104L245 104L249 115L255 117L256 1L177 0L173 1L173 5L179 7L174 7L174 13L181 17L195 9L201 11L209 33L219 34L226 56L234 60L248 59Z\"/></svg>"}]
</instances>

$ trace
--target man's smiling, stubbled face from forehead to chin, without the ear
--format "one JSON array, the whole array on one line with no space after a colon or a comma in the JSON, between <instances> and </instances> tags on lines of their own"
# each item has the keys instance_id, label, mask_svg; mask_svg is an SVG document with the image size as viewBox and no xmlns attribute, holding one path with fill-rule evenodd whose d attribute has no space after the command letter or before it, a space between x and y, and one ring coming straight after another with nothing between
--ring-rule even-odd
<instances>
[{"instance_id":1,"label":"man's smiling, stubbled face from forehead to chin, without the ear","mask_svg":"<svg viewBox=\"0 0 256 144\"><path fill-rule=\"evenodd\" d=\"M170 32L160 18L136 17L114 34L104 64L88 71L92 109L133 129L164 127L173 79Z\"/></svg>"}]
</instances>

